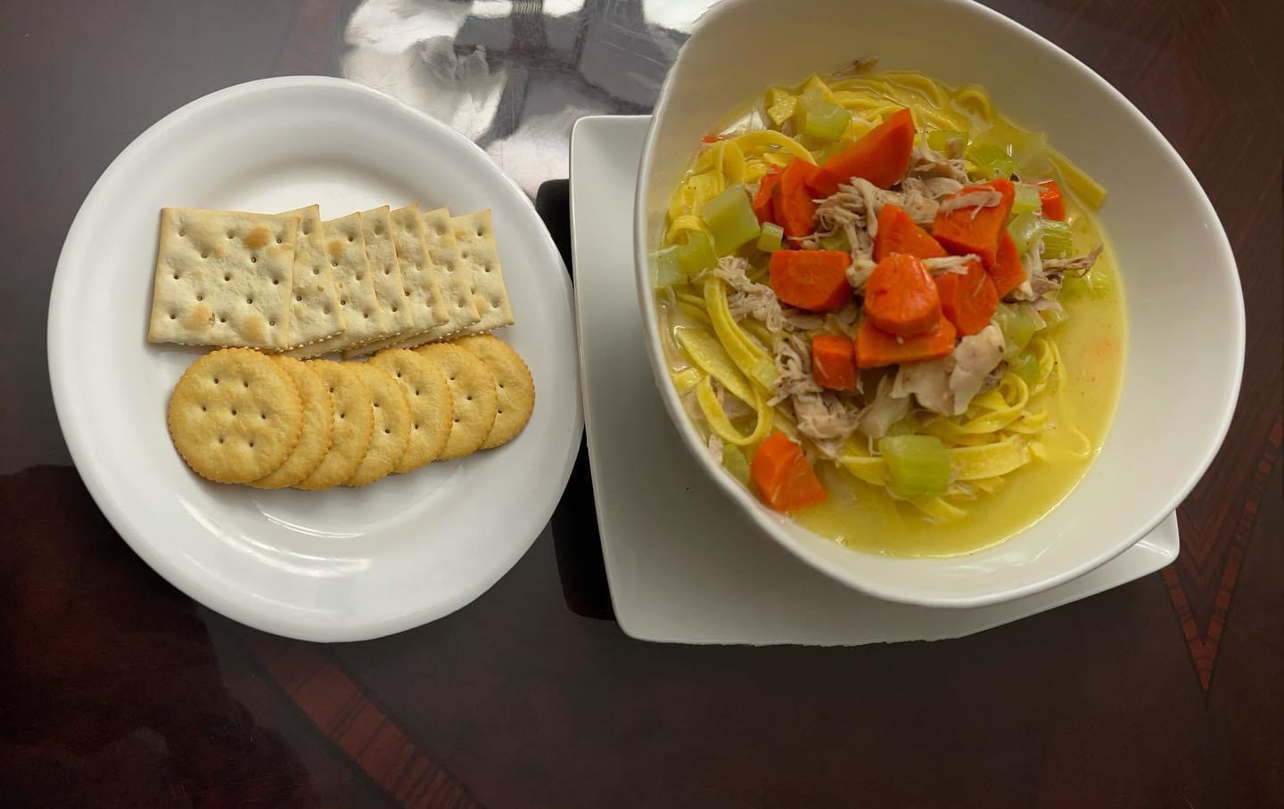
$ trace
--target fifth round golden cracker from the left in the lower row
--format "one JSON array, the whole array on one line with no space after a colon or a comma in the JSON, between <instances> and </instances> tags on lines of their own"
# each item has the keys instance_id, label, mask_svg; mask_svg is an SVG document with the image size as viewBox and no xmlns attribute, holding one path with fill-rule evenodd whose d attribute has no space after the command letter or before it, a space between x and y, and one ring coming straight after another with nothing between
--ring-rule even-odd
<instances>
[{"instance_id":1,"label":"fifth round golden cracker from the left in the lower row","mask_svg":"<svg viewBox=\"0 0 1284 809\"><path fill-rule=\"evenodd\" d=\"M407 349L384 349L370 362L393 374L410 405L410 442L395 472L410 472L435 460L451 437L455 415L446 376L435 363Z\"/></svg>"}]
</instances>

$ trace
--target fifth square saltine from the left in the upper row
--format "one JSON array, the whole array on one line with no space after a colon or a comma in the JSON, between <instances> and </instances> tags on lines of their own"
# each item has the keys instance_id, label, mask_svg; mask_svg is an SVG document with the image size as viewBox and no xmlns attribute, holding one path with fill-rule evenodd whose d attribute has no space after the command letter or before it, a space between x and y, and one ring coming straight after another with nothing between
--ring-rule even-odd
<instances>
[{"instance_id":1,"label":"fifth square saltine from the left in the upper row","mask_svg":"<svg viewBox=\"0 0 1284 809\"><path fill-rule=\"evenodd\" d=\"M389 346L422 345L457 332L464 326L476 323L476 306L466 286L457 290L452 283L457 256L451 251L449 267L433 255L433 235L426 232L419 205L398 208L389 214L397 259L401 264L406 305L415 318L413 327L404 333L380 340L344 353L349 359L361 354L374 354ZM444 254L443 254L444 256ZM447 272L449 271L449 272Z\"/></svg>"}]
</instances>

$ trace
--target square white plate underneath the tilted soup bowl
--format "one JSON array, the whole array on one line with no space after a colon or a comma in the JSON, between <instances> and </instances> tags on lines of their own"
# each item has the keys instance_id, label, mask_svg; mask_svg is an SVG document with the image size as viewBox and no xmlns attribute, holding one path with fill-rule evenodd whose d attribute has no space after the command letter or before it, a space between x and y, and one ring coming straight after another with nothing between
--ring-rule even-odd
<instances>
[{"instance_id":1,"label":"square white plate underneath the tilted soup bowl","mask_svg":"<svg viewBox=\"0 0 1284 809\"><path fill-rule=\"evenodd\" d=\"M1109 590L1177 556L1170 515L1077 580L1016 601L930 609L806 567L691 462L655 390L633 287L633 187L650 118L596 115L570 142L584 424L615 615L630 637L858 645L960 637Z\"/></svg>"}]
</instances>

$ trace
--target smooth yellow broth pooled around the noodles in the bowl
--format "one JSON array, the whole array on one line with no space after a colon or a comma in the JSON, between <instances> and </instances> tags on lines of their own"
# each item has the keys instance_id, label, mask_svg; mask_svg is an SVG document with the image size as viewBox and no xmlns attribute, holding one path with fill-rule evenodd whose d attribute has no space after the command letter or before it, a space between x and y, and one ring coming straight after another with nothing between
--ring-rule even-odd
<instances>
[{"instance_id":1,"label":"smooth yellow broth pooled around the noodles in the bowl","mask_svg":"<svg viewBox=\"0 0 1284 809\"><path fill-rule=\"evenodd\" d=\"M978 88L950 91L918 74L883 74L878 81L886 88L877 91L880 97L912 105L917 117L928 119L928 128L933 124L936 128L950 128L946 124L953 121L967 122L963 126L973 132L989 129L999 136L1022 132L995 112ZM851 79L849 86L859 83L862 79ZM747 114L746 108L741 108L727 119L728 127L737 127ZM949 115L953 118L945 118ZM933 117L936 121L932 121ZM815 146L805 137L800 142L808 149ZM1066 172L1077 174L1077 169L1063 158L1057 160L1055 168L1062 178L1067 221L1075 237L1073 254L1086 254L1097 245L1103 245L1104 253L1085 278L1067 276L1061 300L1070 318L1043 332L1055 342L1066 373L1066 385L1059 394L1058 386L1049 383L1027 404L1028 410L1048 413L1046 428L1034 437L1044 451L1028 464L1004 474L993 491L977 491L975 500L955 501L964 515L948 523L930 519L912 504L896 500L887 488L865 483L837 464L817 459L815 472L829 492L829 500L794 512L791 517L799 524L864 553L891 556L968 554L1003 542L1041 519L1066 499L1086 473L1106 438L1118 397L1125 355L1124 292L1106 235L1084 200L1076 196L1076 183L1066 182ZM670 209L670 222L672 213ZM666 244L672 244L672 233ZM755 253L749 250L747 255L755 256ZM750 277L759 281L765 274L763 258L764 254L751 258L754 269ZM698 288L683 285L679 292L698 295ZM670 299L665 292L657 292L656 300L663 328L668 327L666 336L670 337L665 340L670 373L677 378L690 364L677 347L673 333L688 326L709 328L709 321L697 306L681 297ZM691 405L691 396L686 396L684 401L691 408L693 423L707 440L707 423ZM747 433L754 421L752 415L747 415L736 419L736 426ZM746 456L751 456L747 447Z\"/></svg>"}]
</instances>

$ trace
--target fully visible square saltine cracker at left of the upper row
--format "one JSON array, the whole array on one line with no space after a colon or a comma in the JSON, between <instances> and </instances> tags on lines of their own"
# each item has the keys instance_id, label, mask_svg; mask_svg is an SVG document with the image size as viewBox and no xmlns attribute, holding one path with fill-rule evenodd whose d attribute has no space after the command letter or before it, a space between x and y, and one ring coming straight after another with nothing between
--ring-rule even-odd
<instances>
[{"instance_id":1,"label":"fully visible square saltine cracker at left of the upper row","mask_svg":"<svg viewBox=\"0 0 1284 809\"><path fill-rule=\"evenodd\" d=\"M280 350L298 217L162 208L150 342Z\"/></svg>"}]
</instances>

